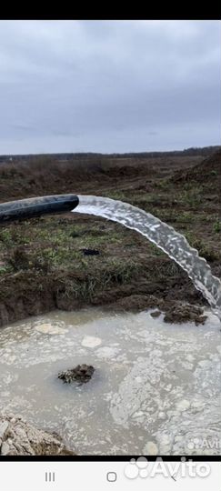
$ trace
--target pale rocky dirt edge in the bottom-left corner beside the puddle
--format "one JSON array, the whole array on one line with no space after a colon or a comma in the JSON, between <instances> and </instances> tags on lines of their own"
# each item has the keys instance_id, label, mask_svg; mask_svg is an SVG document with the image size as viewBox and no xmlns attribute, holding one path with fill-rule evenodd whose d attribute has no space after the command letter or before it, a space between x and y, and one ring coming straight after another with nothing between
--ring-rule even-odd
<instances>
[{"instance_id":1,"label":"pale rocky dirt edge in the bottom-left corner beside the puddle","mask_svg":"<svg viewBox=\"0 0 221 491\"><path fill-rule=\"evenodd\" d=\"M35 428L20 416L0 415L0 456L70 456L59 436Z\"/></svg>"}]
</instances>

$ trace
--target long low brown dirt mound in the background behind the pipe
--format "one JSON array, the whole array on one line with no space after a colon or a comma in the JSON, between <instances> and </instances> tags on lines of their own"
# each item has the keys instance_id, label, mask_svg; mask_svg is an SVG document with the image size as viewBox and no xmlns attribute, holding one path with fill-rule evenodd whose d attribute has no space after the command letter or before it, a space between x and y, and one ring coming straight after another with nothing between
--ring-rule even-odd
<instances>
[{"instance_id":1,"label":"long low brown dirt mound in the background behind the pipe","mask_svg":"<svg viewBox=\"0 0 221 491\"><path fill-rule=\"evenodd\" d=\"M36 157L30 162L0 166L0 202L35 195L91 192L101 185L116 185L122 179L155 175L152 164L118 163L106 157L57 162L52 157Z\"/></svg>"}]
</instances>

